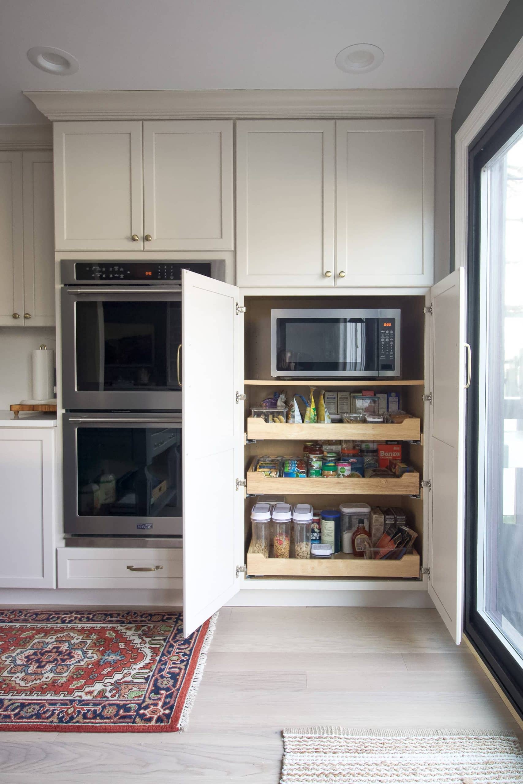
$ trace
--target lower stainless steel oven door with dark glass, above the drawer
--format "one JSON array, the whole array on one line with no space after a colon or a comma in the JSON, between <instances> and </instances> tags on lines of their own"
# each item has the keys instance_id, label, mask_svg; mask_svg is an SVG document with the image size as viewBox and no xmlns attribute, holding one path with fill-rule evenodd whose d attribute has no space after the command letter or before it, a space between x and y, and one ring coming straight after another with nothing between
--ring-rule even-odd
<instances>
[{"instance_id":1,"label":"lower stainless steel oven door with dark glass, above the drawer","mask_svg":"<svg viewBox=\"0 0 523 784\"><path fill-rule=\"evenodd\" d=\"M182 535L181 414L64 414L64 532Z\"/></svg>"}]
</instances>

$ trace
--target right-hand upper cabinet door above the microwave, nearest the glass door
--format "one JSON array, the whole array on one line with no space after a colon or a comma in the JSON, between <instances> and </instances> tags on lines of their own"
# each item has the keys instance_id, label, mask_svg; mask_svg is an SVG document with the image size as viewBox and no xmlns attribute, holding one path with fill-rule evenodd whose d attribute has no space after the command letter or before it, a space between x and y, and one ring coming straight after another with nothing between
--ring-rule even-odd
<instances>
[{"instance_id":1,"label":"right-hand upper cabinet door above the microwave, nearest the glass door","mask_svg":"<svg viewBox=\"0 0 523 784\"><path fill-rule=\"evenodd\" d=\"M336 121L336 285L434 282L434 121Z\"/></svg>"}]
</instances>

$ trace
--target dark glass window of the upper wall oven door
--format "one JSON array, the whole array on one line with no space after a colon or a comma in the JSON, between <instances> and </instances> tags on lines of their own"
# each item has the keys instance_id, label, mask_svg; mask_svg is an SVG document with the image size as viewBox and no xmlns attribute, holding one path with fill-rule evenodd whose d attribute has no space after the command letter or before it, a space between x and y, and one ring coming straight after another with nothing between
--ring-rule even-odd
<instances>
[{"instance_id":1,"label":"dark glass window of the upper wall oven door","mask_svg":"<svg viewBox=\"0 0 523 784\"><path fill-rule=\"evenodd\" d=\"M180 389L180 302L78 302L75 330L78 391Z\"/></svg>"}]
</instances>

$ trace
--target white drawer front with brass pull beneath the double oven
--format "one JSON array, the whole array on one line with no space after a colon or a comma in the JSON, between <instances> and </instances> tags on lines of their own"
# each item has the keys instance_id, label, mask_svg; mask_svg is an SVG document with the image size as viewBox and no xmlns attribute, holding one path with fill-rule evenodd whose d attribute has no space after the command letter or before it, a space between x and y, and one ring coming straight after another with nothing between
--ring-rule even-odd
<instances>
[{"instance_id":1,"label":"white drawer front with brass pull beneath the double oven","mask_svg":"<svg viewBox=\"0 0 523 784\"><path fill-rule=\"evenodd\" d=\"M59 588L182 588L182 550L59 547Z\"/></svg>"}]
</instances>

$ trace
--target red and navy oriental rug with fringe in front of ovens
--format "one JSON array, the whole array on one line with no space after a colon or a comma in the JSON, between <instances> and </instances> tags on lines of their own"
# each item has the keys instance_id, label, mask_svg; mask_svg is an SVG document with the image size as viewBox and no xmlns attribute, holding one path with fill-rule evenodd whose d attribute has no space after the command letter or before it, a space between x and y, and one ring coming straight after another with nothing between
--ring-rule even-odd
<instances>
[{"instance_id":1,"label":"red and navy oriental rug with fringe in front of ovens","mask_svg":"<svg viewBox=\"0 0 523 784\"><path fill-rule=\"evenodd\" d=\"M0 731L183 730L216 615L0 610Z\"/></svg>"}]
</instances>

